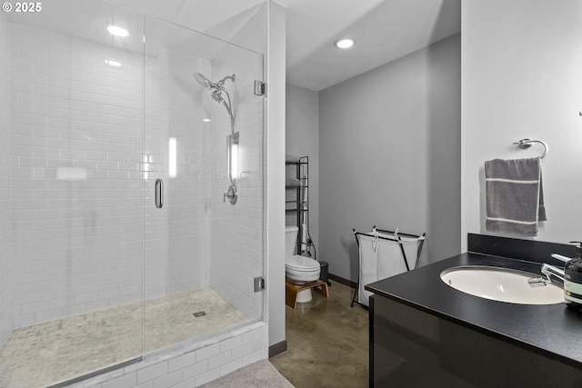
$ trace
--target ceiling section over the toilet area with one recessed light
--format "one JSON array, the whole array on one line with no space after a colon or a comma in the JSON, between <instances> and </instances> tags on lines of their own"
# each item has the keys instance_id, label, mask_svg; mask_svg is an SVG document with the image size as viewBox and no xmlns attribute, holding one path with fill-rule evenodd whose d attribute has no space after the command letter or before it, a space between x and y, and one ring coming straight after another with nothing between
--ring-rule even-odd
<instances>
[{"instance_id":1,"label":"ceiling section over the toilet area with one recessed light","mask_svg":"<svg viewBox=\"0 0 582 388\"><path fill-rule=\"evenodd\" d=\"M460 0L275 0L286 8L287 83L322 90L461 31ZM346 51L333 46L356 39Z\"/></svg>"}]
</instances>

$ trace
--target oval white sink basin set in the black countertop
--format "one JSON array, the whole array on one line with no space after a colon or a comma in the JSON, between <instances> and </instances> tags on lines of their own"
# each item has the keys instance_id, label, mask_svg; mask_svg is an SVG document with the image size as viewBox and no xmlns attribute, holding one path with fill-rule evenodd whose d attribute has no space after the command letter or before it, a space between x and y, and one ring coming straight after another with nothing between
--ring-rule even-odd
<instances>
[{"instance_id":1,"label":"oval white sink basin set in the black countertop","mask_svg":"<svg viewBox=\"0 0 582 388\"><path fill-rule=\"evenodd\" d=\"M443 271L445 284L481 298L518 304L564 302L564 290L555 284L531 287L527 279L542 276L517 270L487 266L453 267Z\"/></svg>"}]
</instances>

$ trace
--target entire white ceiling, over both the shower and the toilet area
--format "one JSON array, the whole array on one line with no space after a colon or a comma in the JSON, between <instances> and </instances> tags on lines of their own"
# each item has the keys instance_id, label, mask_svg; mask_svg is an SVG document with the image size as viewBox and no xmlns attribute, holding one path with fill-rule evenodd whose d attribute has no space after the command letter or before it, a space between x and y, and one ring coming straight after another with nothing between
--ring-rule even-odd
<instances>
[{"instance_id":1,"label":"entire white ceiling, over both the shower and the toilet area","mask_svg":"<svg viewBox=\"0 0 582 388\"><path fill-rule=\"evenodd\" d=\"M226 40L264 3L264 0L112 1ZM273 1L286 8L286 81L315 91L408 55L461 29L461 0ZM101 11L96 5L97 2L88 0L50 0L43 4L42 15L9 16L17 23L39 28L52 25L56 32L66 34L67 28L103 23L91 18L95 19L99 12L111 11ZM62 22L64 15L70 23ZM79 35L78 31L72 35ZM356 45L340 51L333 42L345 36L355 38Z\"/></svg>"}]
</instances>

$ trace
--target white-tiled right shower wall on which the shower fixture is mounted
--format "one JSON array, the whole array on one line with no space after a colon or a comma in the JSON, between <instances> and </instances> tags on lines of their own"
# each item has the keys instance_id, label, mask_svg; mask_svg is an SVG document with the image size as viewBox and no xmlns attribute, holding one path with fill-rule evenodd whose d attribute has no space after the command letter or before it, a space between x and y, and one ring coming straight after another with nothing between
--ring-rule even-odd
<instances>
[{"instance_id":1,"label":"white-tiled right shower wall on which the shower fixture is mounted","mask_svg":"<svg viewBox=\"0 0 582 388\"><path fill-rule=\"evenodd\" d=\"M238 311L261 316L264 293L254 293L254 278L264 273L263 203L263 104L254 94L255 80L263 80L263 55L232 47L213 61L213 78L236 74L225 87L233 97L236 131L239 132L238 200L224 202L230 184L227 177L226 135L230 117L224 106L212 104L212 232L210 285Z\"/></svg>"}]
</instances>

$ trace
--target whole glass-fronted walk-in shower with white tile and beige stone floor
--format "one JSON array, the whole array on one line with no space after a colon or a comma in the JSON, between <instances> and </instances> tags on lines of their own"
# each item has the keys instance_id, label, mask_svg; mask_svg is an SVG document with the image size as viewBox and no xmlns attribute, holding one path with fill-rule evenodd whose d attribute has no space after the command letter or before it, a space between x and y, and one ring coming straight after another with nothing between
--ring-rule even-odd
<instances>
[{"instance_id":1,"label":"whole glass-fronted walk-in shower with white tile and beige stone floor","mask_svg":"<svg viewBox=\"0 0 582 388\"><path fill-rule=\"evenodd\" d=\"M0 15L0 386L261 321L263 55L107 2L42 6ZM235 129L195 73L236 74Z\"/></svg>"}]
</instances>

